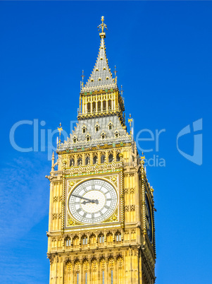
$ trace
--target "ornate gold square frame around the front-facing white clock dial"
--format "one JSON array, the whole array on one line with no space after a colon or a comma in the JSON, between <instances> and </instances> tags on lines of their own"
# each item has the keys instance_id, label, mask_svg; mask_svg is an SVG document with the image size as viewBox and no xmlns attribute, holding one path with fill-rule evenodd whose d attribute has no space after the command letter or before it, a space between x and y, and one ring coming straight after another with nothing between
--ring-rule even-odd
<instances>
[{"instance_id":1,"label":"ornate gold square frame around the front-facing white clock dial","mask_svg":"<svg viewBox=\"0 0 212 284\"><path fill-rule=\"evenodd\" d=\"M115 182L113 180L114 177L116 177ZM110 184L111 187L113 187L113 190L116 192L116 205L114 206L113 211L111 211L111 213L106 218L104 218L104 220L100 220L100 221L98 220L94 223L92 223L92 222L91 223L85 223L82 220L81 221L77 220L77 218L75 218L75 215L73 215L73 213L70 211L70 206L69 206L70 195L73 191L75 191L75 189L77 189L77 187L80 187L80 184L82 184L84 182L89 182L93 179L94 180L100 180L102 182L106 182L106 183ZM70 181L74 182L74 185L70 190L68 190L68 187L69 187L68 184L69 184ZM66 228L67 229L71 229L73 225L74 226L93 226L93 225L96 226L96 225L103 225L103 224L106 225L107 223L112 223L112 222L114 223L115 222L114 220L108 220L108 219L111 218L111 216L113 217L114 213L115 214L117 213L116 214L116 216L117 216L116 223L120 222L120 220L119 220L119 218L120 218L119 217L119 215L120 215L119 205L120 205L119 174L112 174L112 175L108 175L107 177L105 177L105 176L104 177L101 177L101 176L89 177L89 178L86 178L86 177L85 178L79 178L79 177L75 178L75 177L73 177L73 178L66 179L66 217L65 218L66 218ZM75 224L70 225L70 223L68 222L68 215L70 215L70 218L73 219L73 222Z\"/></svg>"}]
</instances>

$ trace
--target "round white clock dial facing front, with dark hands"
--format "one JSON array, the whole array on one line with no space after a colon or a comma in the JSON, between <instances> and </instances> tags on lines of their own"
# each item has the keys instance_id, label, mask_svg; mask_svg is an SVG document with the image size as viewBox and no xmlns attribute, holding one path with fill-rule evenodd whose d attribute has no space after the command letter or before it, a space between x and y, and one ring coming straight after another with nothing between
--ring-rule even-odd
<instances>
[{"instance_id":1,"label":"round white clock dial facing front, with dark hands","mask_svg":"<svg viewBox=\"0 0 212 284\"><path fill-rule=\"evenodd\" d=\"M73 217L87 224L101 223L116 209L116 189L104 179L89 179L70 192L68 208Z\"/></svg>"}]
</instances>

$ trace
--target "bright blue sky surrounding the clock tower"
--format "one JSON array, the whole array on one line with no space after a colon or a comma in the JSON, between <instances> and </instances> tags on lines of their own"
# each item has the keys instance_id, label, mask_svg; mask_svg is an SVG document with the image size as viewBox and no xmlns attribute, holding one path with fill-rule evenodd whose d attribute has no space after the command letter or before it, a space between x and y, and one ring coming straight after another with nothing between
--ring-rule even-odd
<instances>
[{"instance_id":1,"label":"bright blue sky surrounding the clock tower","mask_svg":"<svg viewBox=\"0 0 212 284\"><path fill-rule=\"evenodd\" d=\"M89 77L99 49L97 25L105 16L106 52L118 85L123 84L126 117L159 136L140 141L165 167L146 167L156 205L156 283L211 282L211 1L1 1L0 93L1 283L49 281L46 259L51 170L40 131L59 122L70 133L77 117L82 69ZM9 134L13 124L38 119ZM177 134L202 119L203 162L180 155ZM40 122L45 125L41 126ZM192 127L191 127L192 128ZM128 128L129 129L129 128ZM148 138L143 132L139 138ZM55 145L56 135L53 137ZM194 133L179 138L193 155ZM201 153L201 148L199 148ZM140 152L141 154L141 152ZM155 156L154 156L155 155Z\"/></svg>"}]
</instances>

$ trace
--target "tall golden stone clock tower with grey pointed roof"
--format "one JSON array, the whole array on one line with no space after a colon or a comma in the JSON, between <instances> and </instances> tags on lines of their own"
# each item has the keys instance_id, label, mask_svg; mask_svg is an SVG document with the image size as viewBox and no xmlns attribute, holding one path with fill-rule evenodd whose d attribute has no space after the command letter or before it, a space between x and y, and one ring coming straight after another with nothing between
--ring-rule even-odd
<instances>
[{"instance_id":1,"label":"tall golden stone clock tower with grey pointed roof","mask_svg":"<svg viewBox=\"0 0 212 284\"><path fill-rule=\"evenodd\" d=\"M99 25L94 69L80 89L77 125L51 160L50 284L153 284L154 189L125 122ZM62 131L60 126L58 130Z\"/></svg>"}]
</instances>

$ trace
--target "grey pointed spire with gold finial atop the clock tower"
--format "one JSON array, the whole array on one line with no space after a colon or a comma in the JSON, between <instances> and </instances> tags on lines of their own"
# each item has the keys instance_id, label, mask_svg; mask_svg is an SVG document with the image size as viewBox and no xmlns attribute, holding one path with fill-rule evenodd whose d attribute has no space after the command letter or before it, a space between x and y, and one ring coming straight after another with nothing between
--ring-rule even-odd
<instances>
[{"instance_id":1,"label":"grey pointed spire with gold finial atop the clock tower","mask_svg":"<svg viewBox=\"0 0 212 284\"><path fill-rule=\"evenodd\" d=\"M89 76L85 87L83 88L84 91L88 90L96 90L98 88L116 88L116 83L112 78L111 69L108 66L108 59L106 57L106 47L104 43L104 38L106 37L106 33L104 29L107 30L107 26L104 23L104 16L101 17L101 24L98 26L100 30L99 36L100 40L100 47L99 47L99 54L96 59L96 64L94 69Z\"/></svg>"}]
</instances>

